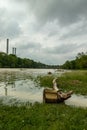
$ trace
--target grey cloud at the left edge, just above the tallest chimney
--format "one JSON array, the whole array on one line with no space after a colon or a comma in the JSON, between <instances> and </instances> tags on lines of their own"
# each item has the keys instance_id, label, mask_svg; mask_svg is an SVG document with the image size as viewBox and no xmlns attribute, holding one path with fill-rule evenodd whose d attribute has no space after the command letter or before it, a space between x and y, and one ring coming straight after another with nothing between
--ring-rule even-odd
<instances>
[{"instance_id":1,"label":"grey cloud at the left edge, just above the tallest chimney","mask_svg":"<svg viewBox=\"0 0 87 130\"><path fill-rule=\"evenodd\" d=\"M9 19L6 9L0 9L0 37L15 38L21 33L21 28L16 20Z\"/></svg>"}]
</instances>

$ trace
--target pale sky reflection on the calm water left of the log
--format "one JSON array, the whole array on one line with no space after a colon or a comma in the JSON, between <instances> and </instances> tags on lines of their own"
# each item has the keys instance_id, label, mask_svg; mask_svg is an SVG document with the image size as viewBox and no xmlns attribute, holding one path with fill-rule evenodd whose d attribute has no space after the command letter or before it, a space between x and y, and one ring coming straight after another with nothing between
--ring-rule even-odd
<instances>
[{"instance_id":1,"label":"pale sky reflection on the calm water left of the log","mask_svg":"<svg viewBox=\"0 0 87 130\"><path fill-rule=\"evenodd\" d=\"M30 80L19 80L15 81L15 84L8 84L7 86L0 87L0 96L6 102L9 102L9 99L17 99L24 102L42 102L42 93L43 88Z\"/></svg>"}]
</instances>

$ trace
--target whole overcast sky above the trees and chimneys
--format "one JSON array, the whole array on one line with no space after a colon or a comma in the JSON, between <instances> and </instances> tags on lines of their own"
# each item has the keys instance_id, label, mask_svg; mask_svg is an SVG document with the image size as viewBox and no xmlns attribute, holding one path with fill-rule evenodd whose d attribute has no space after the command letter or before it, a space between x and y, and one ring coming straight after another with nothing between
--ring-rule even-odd
<instances>
[{"instance_id":1,"label":"whole overcast sky above the trees and chimneys","mask_svg":"<svg viewBox=\"0 0 87 130\"><path fill-rule=\"evenodd\" d=\"M87 51L87 0L0 0L0 52L62 65Z\"/></svg>"}]
</instances>

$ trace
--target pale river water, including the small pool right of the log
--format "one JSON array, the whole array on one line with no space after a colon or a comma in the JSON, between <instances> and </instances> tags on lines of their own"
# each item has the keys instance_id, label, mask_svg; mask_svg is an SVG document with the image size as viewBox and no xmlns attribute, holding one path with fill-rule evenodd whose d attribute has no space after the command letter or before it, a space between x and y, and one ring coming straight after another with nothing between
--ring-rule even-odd
<instances>
[{"instance_id":1,"label":"pale river water, including the small pool right of the log","mask_svg":"<svg viewBox=\"0 0 87 130\"><path fill-rule=\"evenodd\" d=\"M37 80L39 75L60 76L65 71L54 69L0 69L0 102L6 105L21 105L43 102L43 89ZM73 94L66 105L87 107L87 96Z\"/></svg>"}]
</instances>

